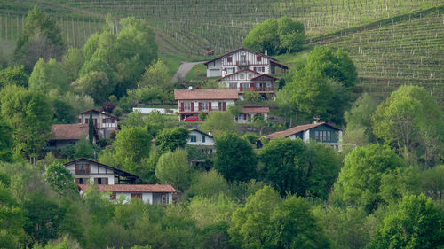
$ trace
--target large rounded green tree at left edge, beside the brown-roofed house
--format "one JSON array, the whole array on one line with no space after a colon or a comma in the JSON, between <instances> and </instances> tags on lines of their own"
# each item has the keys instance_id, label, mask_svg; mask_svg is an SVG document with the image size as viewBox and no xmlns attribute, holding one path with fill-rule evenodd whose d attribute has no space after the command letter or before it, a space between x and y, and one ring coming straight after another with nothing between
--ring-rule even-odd
<instances>
[{"instance_id":1,"label":"large rounded green tree at left edge, beside the brown-roofed house","mask_svg":"<svg viewBox=\"0 0 444 249\"><path fill-rule=\"evenodd\" d=\"M4 88L1 94L2 115L15 128L16 146L34 163L50 135L51 106L44 94L16 86Z\"/></svg>"}]
</instances>

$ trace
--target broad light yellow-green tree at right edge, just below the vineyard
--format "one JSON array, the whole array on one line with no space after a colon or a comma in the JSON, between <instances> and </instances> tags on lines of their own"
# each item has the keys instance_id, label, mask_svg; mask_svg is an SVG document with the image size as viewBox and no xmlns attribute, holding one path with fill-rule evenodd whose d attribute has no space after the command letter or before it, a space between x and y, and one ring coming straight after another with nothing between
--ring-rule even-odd
<instances>
[{"instance_id":1,"label":"broad light yellow-green tree at right edge, just below the vineyard","mask_svg":"<svg viewBox=\"0 0 444 249\"><path fill-rule=\"evenodd\" d=\"M377 106L373 115L373 130L378 138L403 147L408 159L414 147L423 157L424 167L435 163L444 141L442 111L435 99L423 88L401 86L391 97Z\"/></svg>"}]
</instances>

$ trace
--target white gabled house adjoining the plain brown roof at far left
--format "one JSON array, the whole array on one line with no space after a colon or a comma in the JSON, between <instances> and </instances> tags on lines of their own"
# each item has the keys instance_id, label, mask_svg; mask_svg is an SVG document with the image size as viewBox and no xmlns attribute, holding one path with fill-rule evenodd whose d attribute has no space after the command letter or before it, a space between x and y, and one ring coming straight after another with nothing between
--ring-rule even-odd
<instances>
[{"instance_id":1,"label":"white gabled house adjoining the plain brown roof at far left","mask_svg":"<svg viewBox=\"0 0 444 249\"><path fill-rule=\"evenodd\" d=\"M94 128L97 130L99 137L108 138L113 132L117 131L117 121L119 118L105 112L99 112L95 109L80 113L77 122L79 124L88 125L91 122L90 113L92 114L92 122L94 123Z\"/></svg>"}]
</instances>

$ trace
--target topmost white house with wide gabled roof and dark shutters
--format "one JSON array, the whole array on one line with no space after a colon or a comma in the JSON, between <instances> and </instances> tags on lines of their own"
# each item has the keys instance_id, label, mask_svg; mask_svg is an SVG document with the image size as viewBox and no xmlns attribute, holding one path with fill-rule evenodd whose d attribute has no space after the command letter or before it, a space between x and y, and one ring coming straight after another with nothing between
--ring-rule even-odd
<instances>
[{"instance_id":1,"label":"topmost white house with wide gabled roof and dark shutters","mask_svg":"<svg viewBox=\"0 0 444 249\"><path fill-rule=\"evenodd\" d=\"M258 51L240 48L204 63L207 77L225 77L243 69L250 69L259 74L275 74L276 67L287 70L277 59Z\"/></svg>"}]
</instances>

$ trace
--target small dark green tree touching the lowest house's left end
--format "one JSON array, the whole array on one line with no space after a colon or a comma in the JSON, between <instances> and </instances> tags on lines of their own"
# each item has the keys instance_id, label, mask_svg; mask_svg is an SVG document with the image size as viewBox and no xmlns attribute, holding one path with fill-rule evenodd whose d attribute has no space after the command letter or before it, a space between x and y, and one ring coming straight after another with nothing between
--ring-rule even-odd
<instances>
[{"instance_id":1,"label":"small dark green tree touching the lowest house's left end","mask_svg":"<svg viewBox=\"0 0 444 249\"><path fill-rule=\"evenodd\" d=\"M60 163L52 163L46 167L44 180L59 194L76 192L73 176Z\"/></svg>"}]
</instances>

